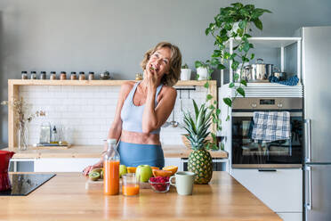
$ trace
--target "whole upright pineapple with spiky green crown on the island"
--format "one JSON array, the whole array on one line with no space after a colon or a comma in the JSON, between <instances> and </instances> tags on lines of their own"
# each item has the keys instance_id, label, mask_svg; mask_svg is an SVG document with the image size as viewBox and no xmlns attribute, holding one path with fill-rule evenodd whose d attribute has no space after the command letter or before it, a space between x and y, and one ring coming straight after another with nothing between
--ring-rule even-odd
<instances>
[{"instance_id":1,"label":"whole upright pineapple with spiky green crown on the island","mask_svg":"<svg viewBox=\"0 0 331 221\"><path fill-rule=\"evenodd\" d=\"M190 113L184 113L184 129L189 133L185 135L190 141L192 152L189 156L188 169L196 174L195 184L208 184L213 176L213 160L209 151L206 150L208 142L206 140L211 124L212 111L208 111L205 104L198 108L193 100L195 118Z\"/></svg>"}]
</instances>

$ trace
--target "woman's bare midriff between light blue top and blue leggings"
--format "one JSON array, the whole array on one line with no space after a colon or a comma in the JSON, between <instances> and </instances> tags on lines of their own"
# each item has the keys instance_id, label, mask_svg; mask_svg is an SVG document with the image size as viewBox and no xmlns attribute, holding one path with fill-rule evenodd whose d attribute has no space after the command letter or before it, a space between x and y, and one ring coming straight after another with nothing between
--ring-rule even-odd
<instances>
[{"instance_id":1,"label":"woman's bare midriff between light blue top and blue leggings","mask_svg":"<svg viewBox=\"0 0 331 221\"><path fill-rule=\"evenodd\" d=\"M160 136L157 134L145 134L122 130L121 141L125 143L157 144L160 143Z\"/></svg>"}]
</instances>

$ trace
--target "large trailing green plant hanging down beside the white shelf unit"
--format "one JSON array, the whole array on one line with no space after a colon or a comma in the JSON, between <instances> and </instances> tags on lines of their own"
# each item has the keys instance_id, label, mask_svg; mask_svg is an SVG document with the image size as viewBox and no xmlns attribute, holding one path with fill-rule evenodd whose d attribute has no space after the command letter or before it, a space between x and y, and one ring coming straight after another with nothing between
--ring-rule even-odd
<instances>
[{"instance_id":1,"label":"large trailing green plant hanging down beside the white shelf unit","mask_svg":"<svg viewBox=\"0 0 331 221\"><path fill-rule=\"evenodd\" d=\"M215 49L211 55L211 59L207 61L196 61L196 67L200 64L205 64L209 67L210 72L217 70L224 70L229 68L231 63L231 68L235 73L233 76L233 82L230 82L230 88L234 88L236 93L234 97L225 97L223 102L225 102L229 107L232 106L233 100L238 94L245 96L245 86L246 80L239 79L238 67L240 63L249 62L254 59L254 53L250 52L250 49L254 48L254 45L249 42L249 37L252 37L252 28L262 30L262 20L261 16L263 13L268 12L267 9L255 8L254 4L241 4L234 3L230 4L228 7L223 7L220 12L214 16L214 21L209 24L206 29L206 36L214 37ZM227 48L227 43L230 37L234 37L232 51L229 52ZM223 61L223 62L221 62ZM231 61L231 62L230 62ZM241 65L239 73L242 73L244 65ZM207 80L210 78L207 78ZM238 82L238 84L235 84ZM205 87L209 88L209 83L206 81ZM206 102L213 98L212 94L206 95ZM213 123L216 125L216 130L222 130L221 119L219 114L221 111L217 108L217 102L212 103L209 108L213 110ZM228 115L227 120L230 119ZM217 145L216 135L211 133L214 138L214 145ZM212 149L217 149L213 147Z\"/></svg>"}]
</instances>

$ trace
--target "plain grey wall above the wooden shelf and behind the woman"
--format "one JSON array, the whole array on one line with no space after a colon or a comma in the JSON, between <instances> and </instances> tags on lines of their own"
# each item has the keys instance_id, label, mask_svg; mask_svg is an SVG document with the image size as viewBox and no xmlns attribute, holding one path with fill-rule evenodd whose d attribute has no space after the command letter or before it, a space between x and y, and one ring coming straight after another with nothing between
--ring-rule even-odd
<instances>
[{"instance_id":1,"label":"plain grey wall above the wooden shelf and behind the woman","mask_svg":"<svg viewBox=\"0 0 331 221\"><path fill-rule=\"evenodd\" d=\"M21 70L109 70L117 79L133 79L143 53L163 40L178 45L193 67L213 50L214 40L204 34L207 25L233 2L1 0L0 99L7 99L7 79L20 78ZM331 25L329 0L248 3L273 12L262 16L264 29L255 36L288 37L302 26ZM6 109L0 114L0 143L6 143Z\"/></svg>"}]
</instances>

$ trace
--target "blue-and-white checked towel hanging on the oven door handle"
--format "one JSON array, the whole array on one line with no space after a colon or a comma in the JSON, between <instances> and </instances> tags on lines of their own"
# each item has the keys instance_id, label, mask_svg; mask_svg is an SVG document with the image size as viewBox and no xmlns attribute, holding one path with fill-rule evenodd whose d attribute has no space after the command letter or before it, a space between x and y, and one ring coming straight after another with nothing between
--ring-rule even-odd
<instances>
[{"instance_id":1,"label":"blue-and-white checked towel hanging on the oven door handle","mask_svg":"<svg viewBox=\"0 0 331 221\"><path fill-rule=\"evenodd\" d=\"M291 137L288 111L255 111L253 120L252 139L254 142L270 143Z\"/></svg>"}]
</instances>

